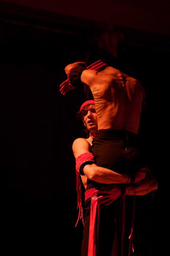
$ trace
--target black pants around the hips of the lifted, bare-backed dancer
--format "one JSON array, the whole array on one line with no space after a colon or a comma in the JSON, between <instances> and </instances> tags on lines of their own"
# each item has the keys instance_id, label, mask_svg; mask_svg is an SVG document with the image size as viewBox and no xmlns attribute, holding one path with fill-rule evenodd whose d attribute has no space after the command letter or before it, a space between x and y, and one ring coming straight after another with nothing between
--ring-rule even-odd
<instances>
[{"instance_id":1,"label":"black pants around the hips of the lifted, bare-backed dancer","mask_svg":"<svg viewBox=\"0 0 170 256\"><path fill-rule=\"evenodd\" d=\"M122 130L99 130L93 141L96 164L119 173L133 173L141 166L137 135Z\"/></svg>"}]
</instances>

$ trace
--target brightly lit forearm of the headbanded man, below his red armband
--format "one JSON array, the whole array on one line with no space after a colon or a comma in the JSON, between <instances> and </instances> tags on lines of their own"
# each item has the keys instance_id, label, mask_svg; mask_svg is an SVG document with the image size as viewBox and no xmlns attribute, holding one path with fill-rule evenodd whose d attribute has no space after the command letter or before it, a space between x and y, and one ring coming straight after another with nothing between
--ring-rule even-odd
<instances>
[{"instance_id":1,"label":"brightly lit forearm of the headbanded man, below his red armband","mask_svg":"<svg viewBox=\"0 0 170 256\"><path fill-rule=\"evenodd\" d=\"M85 165L83 172L88 179L103 184L125 184L129 181L128 174L119 174L96 164Z\"/></svg>"}]
</instances>

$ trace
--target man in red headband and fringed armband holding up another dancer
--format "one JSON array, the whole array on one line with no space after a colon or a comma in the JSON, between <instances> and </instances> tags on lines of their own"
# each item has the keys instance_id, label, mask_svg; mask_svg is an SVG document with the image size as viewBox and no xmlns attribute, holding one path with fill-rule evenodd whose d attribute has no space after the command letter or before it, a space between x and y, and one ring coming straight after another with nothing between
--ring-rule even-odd
<instances>
[{"instance_id":1,"label":"man in red headband and fringed armband holding up another dancer","mask_svg":"<svg viewBox=\"0 0 170 256\"><path fill-rule=\"evenodd\" d=\"M127 174L118 174L112 170L98 167L96 164L94 164L93 155L90 153L91 147L92 147L92 141L93 138L95 138L97 133L97 118L96 118L96 112L95 112L95 106L94 101L89 100L82 104L80 107L80 113L79 113L81 119L83 120L83 123L89 131L88 138L78 138L73 142L73 152L74 156L76 158L77 166L79 166L77 169L77 175L79 174L79 170L81 175L81 179L83 181L84 187L87 188L87 182L90 180L93 180L95 182L100 182L104 184L123 184L130 181L130 177ZM89 153L89 154L88 154ZM83 160L83 156L85 157ZM90 157L90 159L88 159ZM79 159L81 159L79 161ZM82 161L83 160L83 161ZM86 161L88 160L88 161ZM83 162L81 165L80 162ZM86 176L84 176L84 174ZM135 182L140 181L145 177L145 171L138 171L136 173L136 180ZM88 179L87 179L88 178ZM80 185L80 182L78 182ZM93 187L95 188L95 187ZM80 187L79 187L80 189ZM133 195L134 190L137 195L144 195L149 193L152 190L157 189L157 182L152 177L146 178L145 180L136 183L134 185L128 185L127 187L127 194ZM77 187L78 190L78 187ZM81 190L82 191L82 190ZM80 193L80 190L77 191ZM88 197L88 194L93 192L93 189L87 189L85 192L85 197ZM98 193L98 200L101 203L105 202L114 202L114 200L121 197L121 186L114 185L107 187L107 189L104 189L102 187L101 190L94 190L95 193ZM93 194L91 194L93 196ZM81 195L79 194L78 197L78 203L79 206L81 206ZM84 235L83 235L83 242L82 242L82 252L81 255L91 255L92 250L88 244L89 244L89 222L90 222L90 201L91 199L86 199L85 204L85 221L84 221ZM119 246L119 239L117 237L117 217L119 213L119 207L118 207L118 201L116 204L112 204L112 207L103 205L101 208L101 221L99 225L99 233L100 233L100 241L99 241L99 254L97 255L120 255L120 246ZM81 207L80 207L80 215L81 215ZM117 211L117 215L115 214L115 211ZM107 214L107 216L105 216ZM106 218L105 218L106 217ZM104 221L103 221L104 220ZM106 225L106 226L105 226ZM105 232L107 231L107 234ZM115 231L115 232L114 232ZM102 236L101 236L102 234ZM108 239L109 237L109 239ZM91 243L90 243L91 245Z\"/></svg>"}]
</instances>

